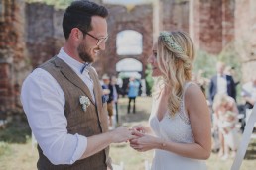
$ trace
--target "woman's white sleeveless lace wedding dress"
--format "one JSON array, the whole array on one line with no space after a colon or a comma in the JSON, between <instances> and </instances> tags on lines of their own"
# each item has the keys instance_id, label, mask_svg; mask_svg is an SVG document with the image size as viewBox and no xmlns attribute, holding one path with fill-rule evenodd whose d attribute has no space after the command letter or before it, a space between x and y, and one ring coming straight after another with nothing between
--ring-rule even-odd
<instances>
[{"instance_id":1,"label":"woman's white sleeveless lace wedding dress","mask_svg":"<svg viewBox=\"0 0 256 170\"><path fill-rule=\"evenodd\" d=\"M190 84L192 83L188 82L184 89L186 90ZM161 121L159 121L156 116L156 106L154 106L156 103L157 102L153 102L152 113L149 119L150 127L153 129L155 135L165 139L166 141L193 143L192 127L188 115L185 112L184 98L182 100L180 111L174 117L170 117L166 112ZM207 168L203 160L186 158L169 151L158 149L155 150L151 167L151 170L205 169Z\"/></svg>"}]
</instances>

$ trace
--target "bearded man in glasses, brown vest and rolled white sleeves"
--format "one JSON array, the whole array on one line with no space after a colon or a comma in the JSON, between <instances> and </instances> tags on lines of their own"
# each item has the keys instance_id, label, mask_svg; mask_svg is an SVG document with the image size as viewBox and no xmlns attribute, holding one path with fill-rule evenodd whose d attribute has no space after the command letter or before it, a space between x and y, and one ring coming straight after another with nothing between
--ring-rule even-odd
<instances>
[{"instance_id":1,"label":"bearded man in glasses, brown vest and rolled white sleeves","mask_svg":"<svg viewBox=\"0 0 256 170\"><path fill-rule=\"evenodd\" d=\"M24 81L21 102L39 143L40 170L112 169L109 144L132 139L125 127L108 131L106 103L91 66L105 49L108 11L73 1L63 19L64 47Z\"/></svg>"}]
</instances>

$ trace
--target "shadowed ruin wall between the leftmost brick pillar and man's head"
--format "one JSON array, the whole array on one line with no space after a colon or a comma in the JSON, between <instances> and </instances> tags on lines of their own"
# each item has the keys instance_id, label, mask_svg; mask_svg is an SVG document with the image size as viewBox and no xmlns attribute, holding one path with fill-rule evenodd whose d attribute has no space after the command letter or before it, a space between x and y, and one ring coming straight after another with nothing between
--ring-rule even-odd
<instances>
[{"instance_id":1,"label":"shadowed ruin wall between the leftmost brick pillar and man's head","mask_svg":"<svg viewBox=\"0 0 256 170\"><path fill-rule=\"evenodd\" d=\"M33 68L50 59L64 44L64 11L42 3L26 5L26 46Z\"/></svg>"}]
</instances>

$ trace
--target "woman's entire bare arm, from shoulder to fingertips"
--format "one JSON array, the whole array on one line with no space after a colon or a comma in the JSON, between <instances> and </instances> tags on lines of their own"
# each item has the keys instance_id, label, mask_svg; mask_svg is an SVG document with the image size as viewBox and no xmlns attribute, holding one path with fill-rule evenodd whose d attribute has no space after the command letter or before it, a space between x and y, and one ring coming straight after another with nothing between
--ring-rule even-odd
<instances>
[{"instance_id":1,"label":"woman's entire bare arm, from shoulder to fingertips","mask_svg":"<svg viewBox=\"0 0 256 170\"><path fill-rule=\"evenodd\" d=\"M192 85L187 89L185 106L191 121L194 143L170 142L134 132L139 138L131 140L131 146L138 151L162 149L184 157L207 159L211 152L211 123L206 100L199 87Z\"/></svg>"}]
</instances>

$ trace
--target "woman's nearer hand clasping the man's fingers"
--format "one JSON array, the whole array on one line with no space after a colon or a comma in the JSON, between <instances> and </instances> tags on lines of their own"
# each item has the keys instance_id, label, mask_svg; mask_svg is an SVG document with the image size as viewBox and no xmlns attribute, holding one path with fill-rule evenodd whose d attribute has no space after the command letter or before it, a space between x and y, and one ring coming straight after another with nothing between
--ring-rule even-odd
<instances>
[{"instance_id":1,"label":"woman's nearer hand clasping the man's fingers","mask_svg":"<svg viewBox=\"0 0 256 170\"><path fill-rule=\"evenodd\" d=\"M157 137L139 131L133 131L132 134L138 136L130 140L130 146L133 149L144 152L158 147L159 139Z\"/></svg>"}]
</instances>

